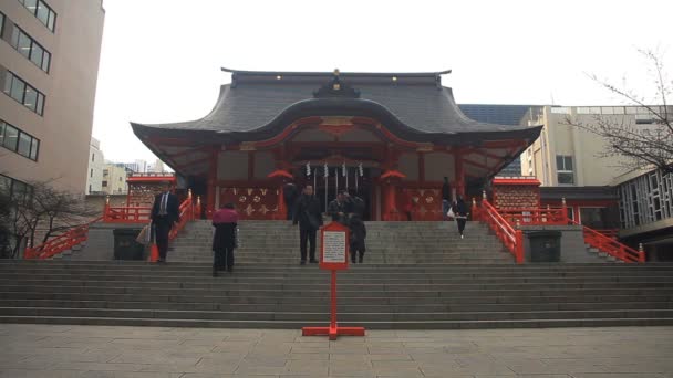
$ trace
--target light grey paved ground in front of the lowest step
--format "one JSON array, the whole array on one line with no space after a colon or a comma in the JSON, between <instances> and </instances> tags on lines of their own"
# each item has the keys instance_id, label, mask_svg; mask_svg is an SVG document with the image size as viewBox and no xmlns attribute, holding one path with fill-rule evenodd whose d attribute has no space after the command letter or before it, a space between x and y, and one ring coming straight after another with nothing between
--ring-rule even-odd
<instances>
[{"instance_id":1,"label":"light grey paved ground in front of the lowest step","mask_svg":"<svg viewBox=\"0 0 673 378\"><path fill-rule=\"evenodd\" d=\"M0 324L0 377L673 378L673 327L298 330Z\"/></svg>"}]
</instances>

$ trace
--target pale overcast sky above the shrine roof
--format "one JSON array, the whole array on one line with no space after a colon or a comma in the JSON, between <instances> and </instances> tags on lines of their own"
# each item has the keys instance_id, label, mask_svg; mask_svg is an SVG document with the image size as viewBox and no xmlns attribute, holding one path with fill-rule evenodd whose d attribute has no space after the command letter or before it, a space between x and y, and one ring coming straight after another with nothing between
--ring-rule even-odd
<instances>
[{"instance_id":1,"label":"pale overcast sky above the shrine roof","mask_svg":"<svg viewBox=\"0 0 673 378\"><path fill-rule=\"evenodd\" d=\"M105 0L93 136L115 161L154 155L130 120L205 116L221 66L427 72L458 103L618 105L586 73L652 97L646 61L673 72L673 2Z\"/></svg>"}]
</instances>

